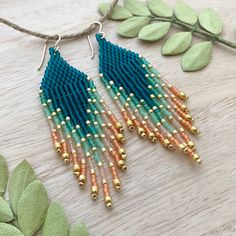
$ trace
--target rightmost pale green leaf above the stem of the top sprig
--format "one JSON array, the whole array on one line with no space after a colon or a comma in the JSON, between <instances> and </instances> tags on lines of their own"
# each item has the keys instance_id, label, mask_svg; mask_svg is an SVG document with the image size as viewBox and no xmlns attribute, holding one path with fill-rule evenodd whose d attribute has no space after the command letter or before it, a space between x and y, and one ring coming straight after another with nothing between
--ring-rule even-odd
<instances>
[{"instance_id":1,"label":"rightmost pale green leaf above the stem of the top sprig","mask_svg":"<svg viewBox=\"0 0 236 236\"><path fill-rule=\"evenodd\" d=\"M210 8L206 8L200 12L199 23L202 28L212 34L220 34L223 30L223 22L220 16Z\"/></svg>"}]
</instances>

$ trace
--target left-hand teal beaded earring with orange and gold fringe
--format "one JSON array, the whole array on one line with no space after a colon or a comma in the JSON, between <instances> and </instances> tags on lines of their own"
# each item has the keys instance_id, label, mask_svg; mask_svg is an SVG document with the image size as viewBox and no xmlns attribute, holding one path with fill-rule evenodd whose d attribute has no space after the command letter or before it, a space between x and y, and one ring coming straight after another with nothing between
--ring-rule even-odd
<instances>
[{"instance_id":1,"label":"left-hand teal beaded earring with orange and gold fringe","mask_svg":"<svg viewBox=\"0 0 236 236\"><path fill-rule=\"evenodd\" d=\"M100 176L105 203L111 207L106 168L108 164L113 185L119 190L117 168L126 170L122 124L87 75L70 66L57 47L49 52L39 94L55 149L66 164L72 164L80 187L85 185L87 171L90 172L93 199L99 192L97 177Z\"/></svg>"}]
</instances>

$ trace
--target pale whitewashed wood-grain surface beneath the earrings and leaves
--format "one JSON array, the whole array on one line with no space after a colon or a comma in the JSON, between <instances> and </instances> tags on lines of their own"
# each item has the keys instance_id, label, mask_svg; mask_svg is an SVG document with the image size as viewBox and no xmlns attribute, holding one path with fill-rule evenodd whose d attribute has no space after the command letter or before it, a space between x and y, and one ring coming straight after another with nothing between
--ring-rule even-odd
<instances>
[{"instance_id":1,"label":"pale whitewashed wood-grain surface beneath the earrings and leaves","mask_svg":"<svg viewBox=\"0 0 236 236\"><path fill-rule=\"evenodd\" d=\"M98 18L98 2L2 0L0 15L32 30L69 33ZM175 0L168 2L174 5ZM186 2L198 11L209 6L218 11L225 23L223 36L235 41L235 1ZM126 132L128 171L121 175L122 192L112 192L114 208L106 209L101 196L97 203L90 200L88 188L78 188L52 148L37 93L43 70L39 73L36 68L43 42L0 25L0 151L10 169L27 159L50 198L62 203L70 223L84 221L92 236L236 235L235 51L215 45L206 69L183 73L180 57L161 56L161 43L120 38L117 25L104 24L109 40L140 52L190 95L189 107L202 130L195 141L203 165L196 167L182 155ZM100 94L118 114L97 79L98 59L90 60L86 38L62 43L60 48L69 63L95 77Z\"/></svg>"}]
</instances>

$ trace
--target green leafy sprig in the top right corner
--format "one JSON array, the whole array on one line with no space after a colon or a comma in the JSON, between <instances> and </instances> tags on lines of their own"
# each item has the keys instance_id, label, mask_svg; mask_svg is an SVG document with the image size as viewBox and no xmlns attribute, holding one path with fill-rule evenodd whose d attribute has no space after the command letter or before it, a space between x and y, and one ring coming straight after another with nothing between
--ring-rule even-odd
<instances>
[{"instance_id":1,"label":"green leafy sprig in the top right corner","mask_svg":"<svg viewBox=\"0 0 236 236\"><path fill-rule=\"evenodd\" d=\"M162 46L164 56L183 54L183 71L196 71L207 66L214 42L236 49L236 43L219 36L223 22L211 8L205 8L198 14L182 0L176 2L174 9L164 0L124 0L123 3L123 6L116 6L109 16L112 20L124 20L117 28L118 34L123 37L153 42L166 36L173 25L184 29L171 35ZM108 8L109 3L99 4L102 15ZM207 41L192 45L193 35Z\"/></svg>"}]
</instances>

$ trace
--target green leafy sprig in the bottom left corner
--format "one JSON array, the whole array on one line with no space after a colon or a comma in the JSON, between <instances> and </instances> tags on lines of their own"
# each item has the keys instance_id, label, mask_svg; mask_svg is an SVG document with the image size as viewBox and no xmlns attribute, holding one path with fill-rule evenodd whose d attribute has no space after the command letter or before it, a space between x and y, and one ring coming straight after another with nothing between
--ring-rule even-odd
<instances>
[{"instance_id":1,"label":"green leafy sprig in the bottom left corner","mask_svg":"<svg viewBox=\"0 0 236 236\"><path fill-rule=\"evenodd\" d=\"M0 155L0 236L89 236L84 224L69 227L64 210L49 203L32 166L22 161L11 173ZM9 201L4 194L8 184Z\"/></svg>"}]
</instances>

